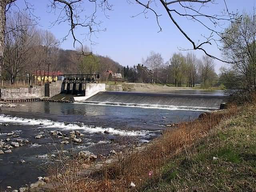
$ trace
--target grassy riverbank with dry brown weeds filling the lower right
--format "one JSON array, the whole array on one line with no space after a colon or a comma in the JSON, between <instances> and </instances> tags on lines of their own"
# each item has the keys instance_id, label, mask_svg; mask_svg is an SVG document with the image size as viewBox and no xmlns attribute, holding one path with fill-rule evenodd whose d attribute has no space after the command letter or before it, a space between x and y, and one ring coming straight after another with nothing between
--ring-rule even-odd
<instances>
[{"instance_id":1,"label":"grassy riverbank with dry brown weeds filling the lower right","mask_svg":"<svg viewBox=\"0 0 256 192\"><path fill-rule=\"evenodd\" d=\"M256 102L244 106L230 104L228 109L202 114L194 122L174 125L147 145L138 147L135 142L129 142L123 149L114 148L112 160L101 156L100 168L87 172L86 176L82 176L82 169L90 165L84 164L84 159L81 163L81 158L73 158L68 168L58 167L54 189L67 192L254 191L255 107ZM68 165L65 163L63 165Z\"/></svg>"}]
</instances>

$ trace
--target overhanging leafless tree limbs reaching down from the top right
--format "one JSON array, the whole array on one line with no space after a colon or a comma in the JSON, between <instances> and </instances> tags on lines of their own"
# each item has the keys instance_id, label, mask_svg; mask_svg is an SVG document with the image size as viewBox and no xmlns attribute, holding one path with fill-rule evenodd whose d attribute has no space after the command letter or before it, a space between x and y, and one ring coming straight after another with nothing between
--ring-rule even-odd
<instances>
[{"instance_id":1,"label":"overhanging leafless tree limbs reaching down from the top right","mask_svg":"<svg viewBox=\"0 0 256 192\"><path fill-rule=\"evenodd\" d=\"M162 31L160 25L160 16L164 13L161 12L162 9L158 8L158 4L164 8L165 13L168 15L172 23L176 28L182 33L182 35L192 44L192 49L181 50L202 50L207 56L213 59L220 60L222 62L233 63L231 60L222 60L212 54L210 54L204 46L216 44L219 48L220 39L222 39L223 34L223 25L236 23L241 20L238 12L233 13L228 10L226 0L222 0L224 4L223 8L219 8L220 13L208 14L209 9L217 4L216 0L128 0L129 2L136 2L139 5L143 6L143 11L139 14L144 14L147 17L148 12L152 12L156 17L156 22L159 27L159 31ZM218 1L220 2L220 1ZM223 9L223 10L222 10ZM139 15L138 14L138 15ZM188 19L188 22L197 22L205 28L208 32L208 36L202 36L201 41L196 42L190 37L188 31L185 31L180 25L179 17L184 17ZM193 31L196 29L193 29ZM198 29L200 34L201 29Z\"/></svg>"}]
</instances>

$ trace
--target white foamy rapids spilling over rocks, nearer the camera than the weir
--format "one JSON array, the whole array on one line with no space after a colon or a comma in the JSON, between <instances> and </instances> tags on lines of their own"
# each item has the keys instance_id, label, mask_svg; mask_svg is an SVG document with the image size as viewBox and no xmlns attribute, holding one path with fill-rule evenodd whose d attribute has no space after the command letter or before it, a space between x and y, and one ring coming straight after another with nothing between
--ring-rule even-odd
<instances>
[{"instance_id":1,"label":"white foamy rapids spilling over rocks, nearer the camera than the weir","mask_svg":"<svg viewBox=\"0 0 256 192\"><path fill-rule=\"evenodd\" d=\"M105 131L109 132L113 135L120 136L154 136L156 135L153 131L147 130L119 130L114 128L102 128L97 126L88 126L88 125L77 125L77 124L65 124L64 122L55 122L48 119L29 119L29 118L20 118L14 116L6 116L4 114L0 115L0 122L8 122L8 123L18 123L21 125L39 125L40 128L58 128L63 130L83 130L86 133L94 134L94 133L104 133Z\"/></svg>"}]
</instances>

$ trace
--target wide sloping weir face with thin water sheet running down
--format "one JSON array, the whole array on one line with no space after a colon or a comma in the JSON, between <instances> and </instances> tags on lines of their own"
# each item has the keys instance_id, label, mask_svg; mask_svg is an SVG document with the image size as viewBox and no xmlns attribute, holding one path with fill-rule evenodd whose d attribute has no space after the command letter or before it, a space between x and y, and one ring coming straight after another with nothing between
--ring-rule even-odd
<instances>
[{"instance_id":1,"label":"wide sloping weir face with thin water sheet running down","mask_svg":"<svg viewBox=\"0 0 256 192\"><path fill-rule=\"evenodd\" d=\"M180 110L217 110L225 96L192 93L99 92L86 104L116 105Z\"/></svg>"}]
</instances>

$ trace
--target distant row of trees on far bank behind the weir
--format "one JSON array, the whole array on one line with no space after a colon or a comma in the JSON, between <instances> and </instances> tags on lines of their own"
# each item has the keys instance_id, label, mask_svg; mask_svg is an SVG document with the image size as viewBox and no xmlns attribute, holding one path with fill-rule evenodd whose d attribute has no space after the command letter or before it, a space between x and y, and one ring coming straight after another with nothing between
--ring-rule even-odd
<instances>
[{"instance_id":1,"label":"distant row of trees on far bank behind the weir","mask_svg":"<svg viewBox=\"0 0 256 192\"><path fill-rule=\"evenodd\" d=\"M160 53L150 52L141 64L124 67L124 80L129 82L166 83L174 86L194 87L196 82L203 87L214 86L218 75L214 71L212 58L197 58L192 52L183 55L174 53L168 62L164 62Z\"/></svg>"}]
</instances>

